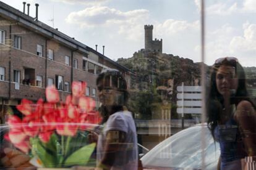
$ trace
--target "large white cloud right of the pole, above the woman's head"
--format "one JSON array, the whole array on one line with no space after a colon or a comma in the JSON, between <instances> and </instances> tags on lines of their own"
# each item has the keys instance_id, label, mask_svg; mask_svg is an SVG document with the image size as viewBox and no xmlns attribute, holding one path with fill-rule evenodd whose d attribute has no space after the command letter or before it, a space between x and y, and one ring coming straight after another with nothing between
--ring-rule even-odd
<instances>
[{"instance_id":1,"label":"large white cloud right of the pole, above the woman's head","mask_svg":"<svg viewBox=\"0 0 256 170\"><path fill-rule=\"evenodd\" d=\"M206 62L213 62L225 56L234 56L244 66L255 66L256 57L256 24L245 22L242 26L243 34L239 35L239 28L228 24L221 26L218 30L206 33ZM199 51L200 46L195 47Z\"/></svg>"}]
</instances>

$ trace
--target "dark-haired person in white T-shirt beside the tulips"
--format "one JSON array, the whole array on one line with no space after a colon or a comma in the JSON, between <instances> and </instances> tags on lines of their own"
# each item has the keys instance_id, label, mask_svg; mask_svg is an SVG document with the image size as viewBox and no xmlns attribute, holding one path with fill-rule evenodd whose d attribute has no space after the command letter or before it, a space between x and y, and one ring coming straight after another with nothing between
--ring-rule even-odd
<instances>
[{"instance_id":1,"label":"dark-haired person in white T-shirt beside the tulips","mask_svg":"<svg viewBox=\"0 0 256 170\"><path fill-rule=\"evenodd\" d=\"M103 115L103 132L98 136L97 166L103 169L137 169L137 133L127 102L127 84L117 70L98 75L98 97Z\"/></svg>"}]
</instances>

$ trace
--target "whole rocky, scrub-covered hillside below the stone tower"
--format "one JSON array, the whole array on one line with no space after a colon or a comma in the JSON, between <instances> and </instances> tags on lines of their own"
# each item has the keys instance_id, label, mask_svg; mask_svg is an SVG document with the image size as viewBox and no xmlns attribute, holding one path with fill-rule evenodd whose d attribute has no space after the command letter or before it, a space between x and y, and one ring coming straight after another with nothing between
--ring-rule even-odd
<instances>
[{"instance_id":1,"label":"whole rocky, scrub-covered hillside below the stone tower","mask_svg":"<svg viewBox=\"0 0 256 170\"><path fill-rule=\"evenodd\" d=\"M131 78L129 108L140 119L160 118L161 110L171 110L171 118L176 113L177 86L200 86L200 63L172 54L155 52L135 52L129 59L118 59L117 63L134 72ZM210 67L207 70L207 81ZM245 67L249 89L256 88L256 67ZM254 88L255 87L255 88ZM192 118L192 115L186 115Z\"/></svg>"}]
</instances>

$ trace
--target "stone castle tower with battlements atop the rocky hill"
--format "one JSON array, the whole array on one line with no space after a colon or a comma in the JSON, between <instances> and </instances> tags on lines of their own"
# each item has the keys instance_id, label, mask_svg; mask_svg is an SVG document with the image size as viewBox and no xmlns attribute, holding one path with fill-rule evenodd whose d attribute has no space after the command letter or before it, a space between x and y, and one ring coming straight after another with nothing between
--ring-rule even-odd
<instances>
[{"instance_id":1,"label":"stone castle tower with battlements atop the rocky hill","mask_svg":"<svg viewBox=\"0 0 256 170\"><path fill-rule=\"evenodd\" d=\"M152 38L153 25L144 25L145 29L145 51L160 52L163 51L163 39Z\"/></svg>"}]
</instances>

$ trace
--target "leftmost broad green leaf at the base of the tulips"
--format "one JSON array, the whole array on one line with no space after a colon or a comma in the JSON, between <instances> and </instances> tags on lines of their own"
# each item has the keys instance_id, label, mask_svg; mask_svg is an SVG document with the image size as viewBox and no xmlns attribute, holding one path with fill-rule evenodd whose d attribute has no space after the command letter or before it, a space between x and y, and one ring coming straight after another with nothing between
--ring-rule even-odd
<instances>
[{"instance_id":1,"label":"leftmost broad green leaf at the base of the tulips","mask_svg":"<svg viewBox=\"0 0 256 170\"><path fill-rule=\"evenodd\" d=\"M47 152L40 139L33 138L30 139L30 142L32 142L32 153L40 158L45 167L53 168L56 166L56 158Z\"/></svg>"}]
</instances>

